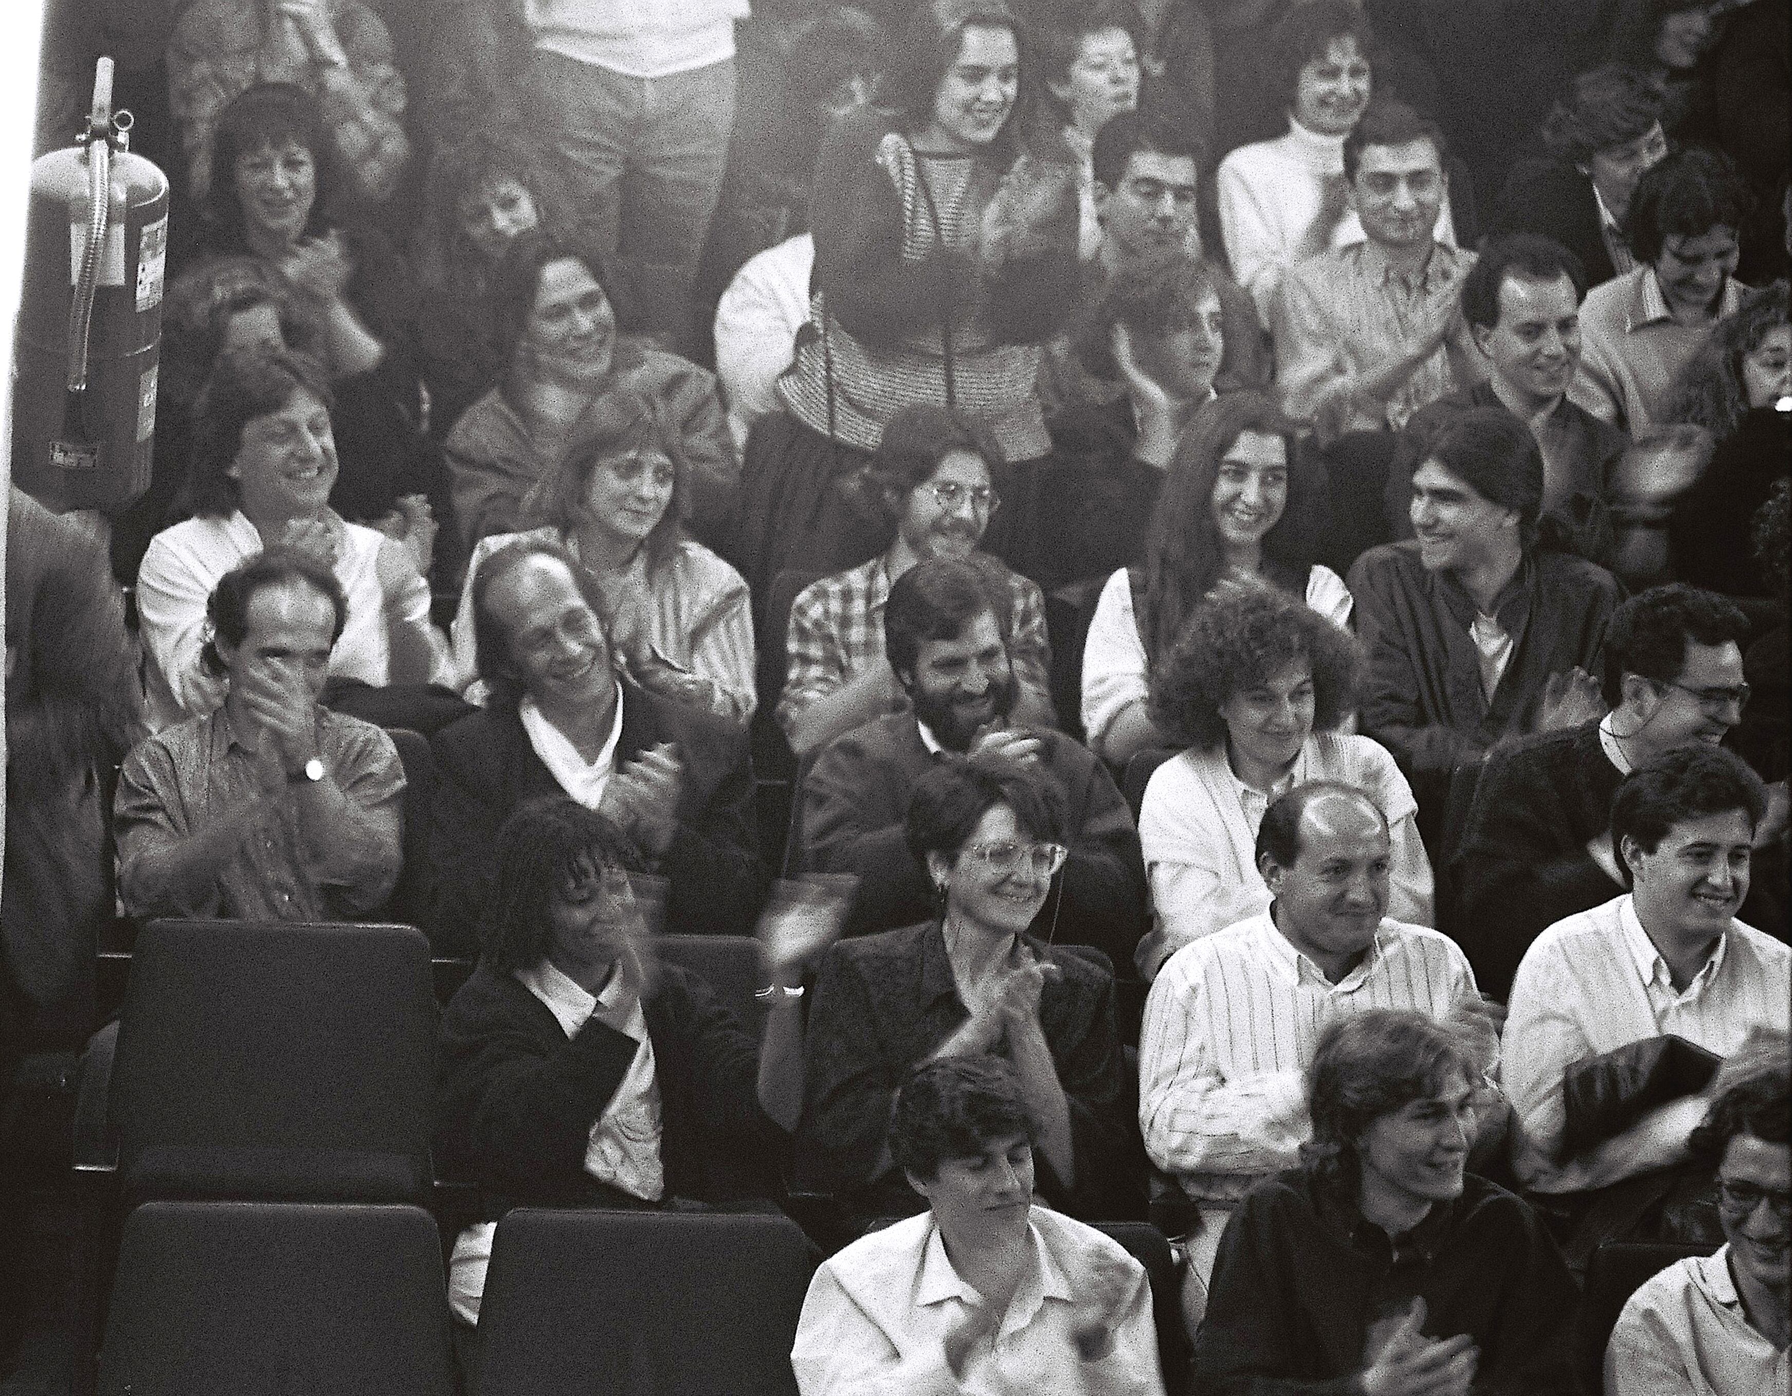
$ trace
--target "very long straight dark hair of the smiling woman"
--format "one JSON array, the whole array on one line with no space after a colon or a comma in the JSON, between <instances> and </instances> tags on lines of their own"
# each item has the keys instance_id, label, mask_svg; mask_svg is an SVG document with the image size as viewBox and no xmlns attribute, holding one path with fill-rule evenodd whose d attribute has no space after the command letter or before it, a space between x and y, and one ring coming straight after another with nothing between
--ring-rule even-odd
<instances>
[{"instance_id":1,"label":"very long straight dark hair of the smiling woman","mask_svg":"<svg viewBox=\"0 0 1792 1396\"><path fill-rule=\"evenodd\" d=\"M1150 659L1170 651L1183 624L1220 579L1224 552L1213 527L1213 487L1226 452L1242 432L1276 435L1287 446L1288 504L1263 538L1263 575L1290 595L1306 595L1326 482L1322 470L1299 450L1297 430L1269 394L1256 391L1224 392L1195 410L1145 534L1145 604L1138 633Z\"/></svg>"}]
</instances>

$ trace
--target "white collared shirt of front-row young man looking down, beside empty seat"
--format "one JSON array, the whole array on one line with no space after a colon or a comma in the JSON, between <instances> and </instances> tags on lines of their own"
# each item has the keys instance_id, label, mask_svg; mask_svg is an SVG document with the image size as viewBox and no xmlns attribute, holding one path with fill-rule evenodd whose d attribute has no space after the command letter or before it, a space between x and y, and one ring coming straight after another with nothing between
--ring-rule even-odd
<instances>
[{"instance_id":1,"label":"white collared shirt of front-row young man looking down, beside empty seat","mask_svg":"<svg viewBox=\"0 0 1792 1396\"><path fill-rule=\"evenodd\" d=\"M995 1331L957 1378L944 1339L984 1297L923 1211L823 1262L790 1366L803 1396L1161 1396L1145 1271L1091 1226L1034 1206L1027 1258ZM1106 1351L1084 1355L1079 1335Z\"/></svg>"}]
</instances>

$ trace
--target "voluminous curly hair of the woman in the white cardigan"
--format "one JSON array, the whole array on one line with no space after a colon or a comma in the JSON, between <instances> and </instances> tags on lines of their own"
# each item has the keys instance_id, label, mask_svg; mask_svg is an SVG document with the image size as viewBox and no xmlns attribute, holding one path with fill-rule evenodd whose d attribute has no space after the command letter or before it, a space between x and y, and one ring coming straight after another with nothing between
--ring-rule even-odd
<instances>
[{"instance_id":1,"label":"voluminous curly hair of the woman in the white cardigan","mask_svg":"<svg viewBox=\"0 0 1792 1396\"><path fill-rule=\"evenodd\" d=\"M1314 731L1337 731L1357 710L1357 640L1287 591L1220 588L1158 659L1150 720L1172 742L1211 751L1226 740L1220 708L1296 659L1314 672Z\"/></svg>"}]
</instances>

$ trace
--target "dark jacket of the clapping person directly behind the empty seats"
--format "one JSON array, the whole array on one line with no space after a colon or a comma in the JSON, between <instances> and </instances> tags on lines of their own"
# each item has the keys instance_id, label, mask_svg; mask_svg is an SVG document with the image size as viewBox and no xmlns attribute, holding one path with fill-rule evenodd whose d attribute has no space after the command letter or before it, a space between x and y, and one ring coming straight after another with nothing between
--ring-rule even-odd
<instances>
[{"instance_id":1,"label":"dark jacket of the clapping person directly behind the empty seats","mask_svg":"<svg viewBox=\"0 0 1792 1396\"><path fill-rule=\"evenodd\" d=\"M771 1197L785 1134L758 1104L753 1034L701 978L661 964L642 1002L654 1047L667 1197ZM482 1213L518 1204L640 1206L584 1172L591 1125L636 1043L591 1018L568 1038L507 973L480 964L443 1014L435 1156L484 1186Z\"/></svg>"}]
</instances>

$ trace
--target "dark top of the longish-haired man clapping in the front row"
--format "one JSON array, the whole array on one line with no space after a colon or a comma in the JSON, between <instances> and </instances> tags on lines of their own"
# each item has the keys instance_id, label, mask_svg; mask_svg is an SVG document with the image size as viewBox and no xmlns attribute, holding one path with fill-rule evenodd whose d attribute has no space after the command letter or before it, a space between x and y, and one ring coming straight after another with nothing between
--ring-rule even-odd
<instances>
[{"instance_id":1,"label":"dark top of the longish-haired man clapping in the front row","mask_svg":"<svg viewBox=\"0 0 1792 1396\"><path fill-rule=\"evenodd\" d=\"M1389 1238L1305 1172L1254 1188L1226 1224L1195 1335L1199 1396L1353 1396L1369 1326L1425 1299L1423 1333L1468 1333L1475 1396L1573 1396L1568 1265L1538 1215L1469 1174Z\"/></svg>"}]
</instances>

